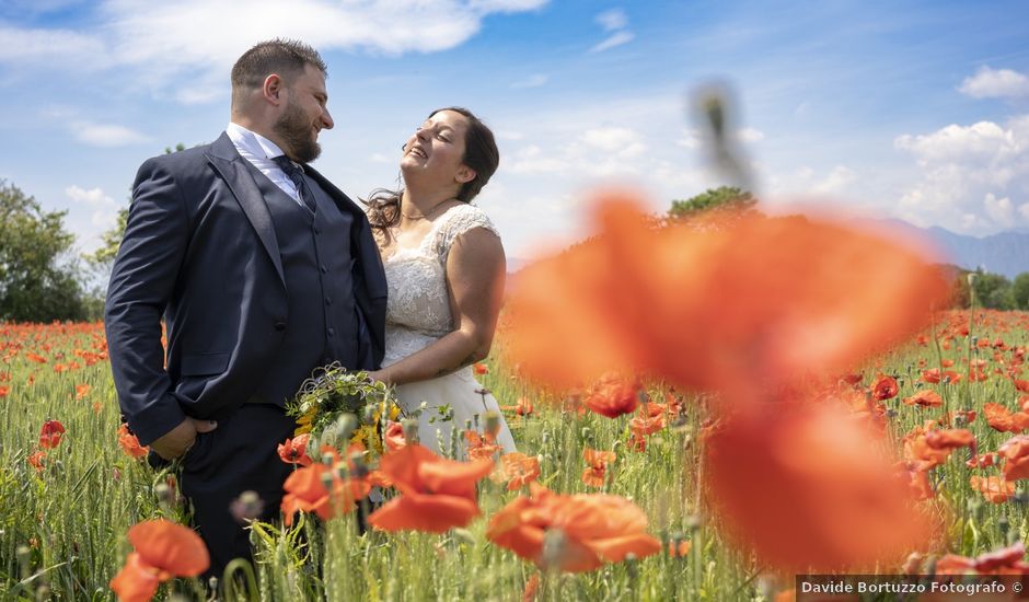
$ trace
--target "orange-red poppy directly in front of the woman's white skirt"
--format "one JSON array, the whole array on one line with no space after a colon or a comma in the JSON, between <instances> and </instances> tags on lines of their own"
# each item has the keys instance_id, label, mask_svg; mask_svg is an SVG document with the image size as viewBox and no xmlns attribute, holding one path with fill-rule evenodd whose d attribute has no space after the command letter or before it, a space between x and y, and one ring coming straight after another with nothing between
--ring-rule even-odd
<instances>
[{"instance_id":1,"label":"orange-red poppy directly in front of the woman's white skirt","mask_svg":"<svg viewBox=\"0 0 1029 602\"><path fill-rule=\"evenodd\" d=\"M455 462L408 444L383 455L379 470L401 495L372 512L368 523L383 531L442 533L479 514L475 484L489 474L493 461Z\"/></svg>"}]
</instances>

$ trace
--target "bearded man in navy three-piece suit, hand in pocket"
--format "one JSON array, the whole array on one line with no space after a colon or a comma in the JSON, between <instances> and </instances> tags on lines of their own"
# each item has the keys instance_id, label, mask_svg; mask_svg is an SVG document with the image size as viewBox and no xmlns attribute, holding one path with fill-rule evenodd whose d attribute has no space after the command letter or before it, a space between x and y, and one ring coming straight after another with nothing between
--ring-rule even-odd
<instances>
[{"instance_id":1,"label":"bearded man in navy three-piece suit, hand in pocket","mask_svg":"<svg viewBox=\"0 0 1029 602\"><path fill-rule=\"evenodd\" d=\"M107 289L122 412L141 443L181 459L209 575L250 557L233 499L254 490L263 520L278 513L286 400L317 366L382 361L386 285L368 220L307 165L333 127L325 71L299 42L244 53L226 132L139 169Z\"/></svg>"}]
</instances>

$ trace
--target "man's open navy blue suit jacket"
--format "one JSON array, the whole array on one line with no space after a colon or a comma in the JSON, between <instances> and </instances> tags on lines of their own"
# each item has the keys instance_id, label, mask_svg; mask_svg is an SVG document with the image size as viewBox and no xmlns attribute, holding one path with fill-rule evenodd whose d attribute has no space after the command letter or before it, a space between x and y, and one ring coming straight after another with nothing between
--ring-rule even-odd
<instances>
[{"instance_id":1,"label":"man's open navy blue suit jacket","mask_svg":"<svg viewBox=\"0 0 1029 602\"><path fill-rule=\"evenodd\" d=\"M230 414L273 368L289 321L287 290L271 216L244 162L222 134L211 144L149 159L136 176L105 326L122 412L143 444L185 416ZM378 368L386 282L368 219L321 174L305 171L354 217L354 297L374 360L361 368ZM316 291L288 291L305 293ZM176 391L187 379L190 391L201 391L198 398Z\"/></svg>"}]
</instances>

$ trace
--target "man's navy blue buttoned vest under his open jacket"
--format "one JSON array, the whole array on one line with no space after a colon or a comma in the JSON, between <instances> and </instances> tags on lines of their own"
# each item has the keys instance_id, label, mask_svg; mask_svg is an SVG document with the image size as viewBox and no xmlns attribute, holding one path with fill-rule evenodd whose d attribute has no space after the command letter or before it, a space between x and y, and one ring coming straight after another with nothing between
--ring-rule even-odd
<instances>
[{"instance_id":1,"label":"man's navy blue buttoned vest under his open jacket","mask_svg":"<svg viewBox=\"0 0 1029 602\"><path fill-rule=\"evenodd\" d=\"M319 366L338 361L360 368L370 352L368 332L354 302L350 227L332 197L307 177L316 211L290 198L259 170L245 162L271 212L279 245L289 316L282 344L255 397L281 405Z\"/></svg>"}]
</instances>

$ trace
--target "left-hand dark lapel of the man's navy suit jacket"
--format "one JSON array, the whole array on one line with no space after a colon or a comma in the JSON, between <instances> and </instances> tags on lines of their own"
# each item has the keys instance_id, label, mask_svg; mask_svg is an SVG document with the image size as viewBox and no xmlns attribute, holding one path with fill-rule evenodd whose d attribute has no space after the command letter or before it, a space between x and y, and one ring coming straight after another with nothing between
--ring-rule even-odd
<instances>
[{"instance_id":1,"label":"left-hand dark lapel of the man's navy suit jacket","mask_svg":"<svg viewBox=\"0 0 1029 602\"><path fill-rule=\"evenodd\" d=\"M232 143L232 140L229 139L228 135L222 134L221 137L210 146L207 159L215 170L221 174L221 177L224 178L226 184L229 185L235 199L243 208L243 213L246 215L246 219L250 220L251 225L257 231L257 238L261 240L261 244L264 245L265 251L268 252L268 256L271 257L271 263L275 264L275 271L279 275L279 279L285 287L286 276L282 271L282 259L279 254L279 243L275 238L275 225L271 223L271 213L268 211L264 196L257 188L257 183L254 182L254 177L246 170L246 166L243 165L244 159L240 157L240 153L235 150L235 146Z\"/></svg>"}]
</instances>

